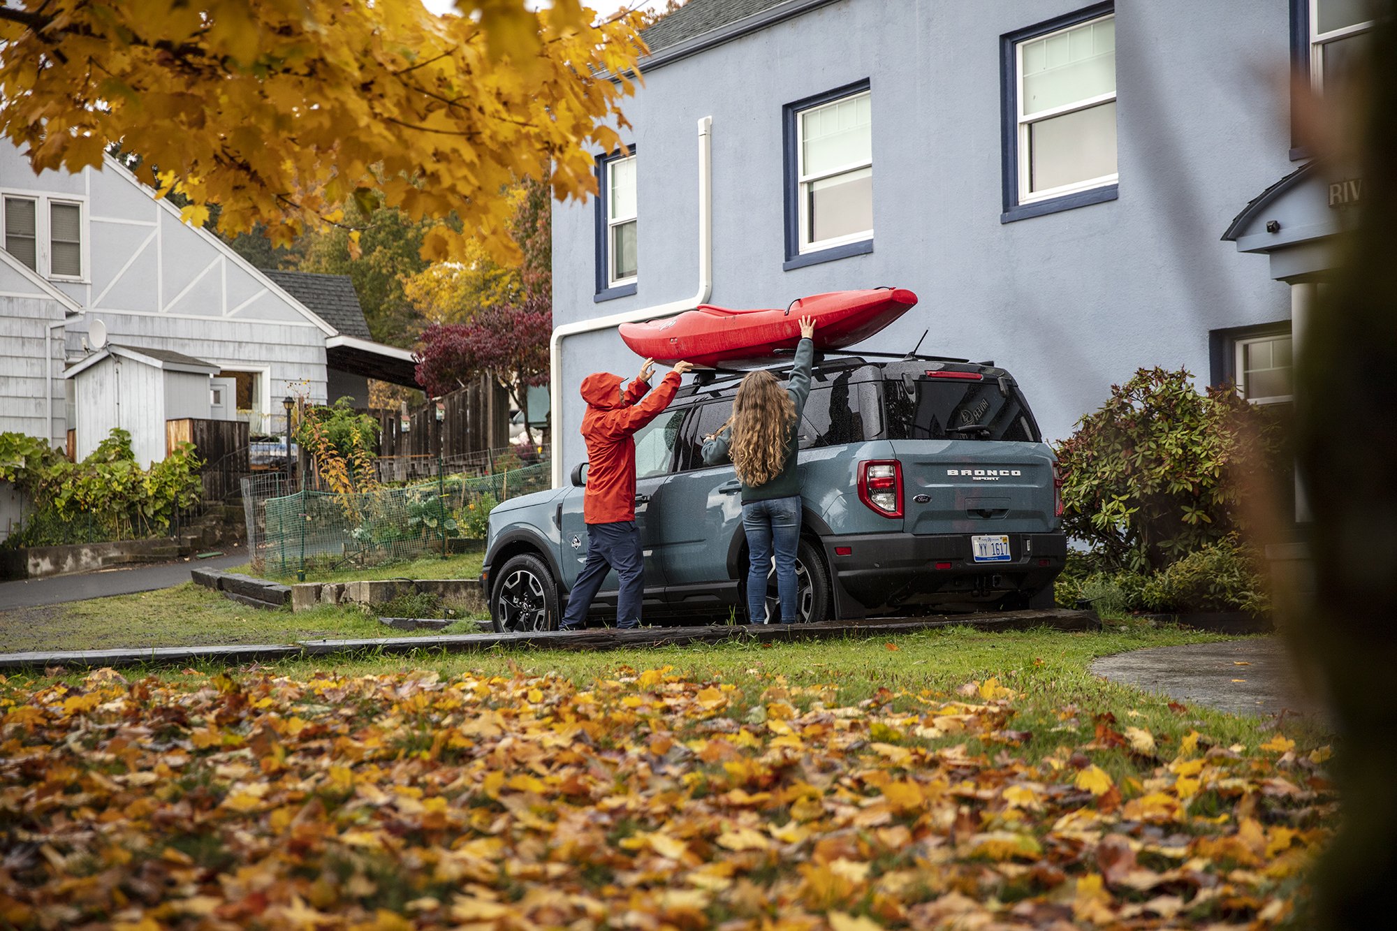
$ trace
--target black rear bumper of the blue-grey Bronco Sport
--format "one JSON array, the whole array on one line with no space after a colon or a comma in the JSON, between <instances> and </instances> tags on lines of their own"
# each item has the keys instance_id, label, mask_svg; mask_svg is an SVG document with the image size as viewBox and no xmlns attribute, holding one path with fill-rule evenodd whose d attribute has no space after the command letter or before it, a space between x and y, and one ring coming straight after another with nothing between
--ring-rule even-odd
<instances>
[{"instance_id":1,"label":"black rear bumper of the blue-grey Bronco Sport","mask_svg":"<svg viewBox=\"0 0 1397 931\"><path fill-rule=\"evenodd\" d=\"M971 534L826 537L824 556L844 593L866 609L989 601L1032 594L1058 577L1067 535L1007 534L1010 558L975 562ZM841 551L847 549L845 555Z\"/></svg>"}]
</instances>

